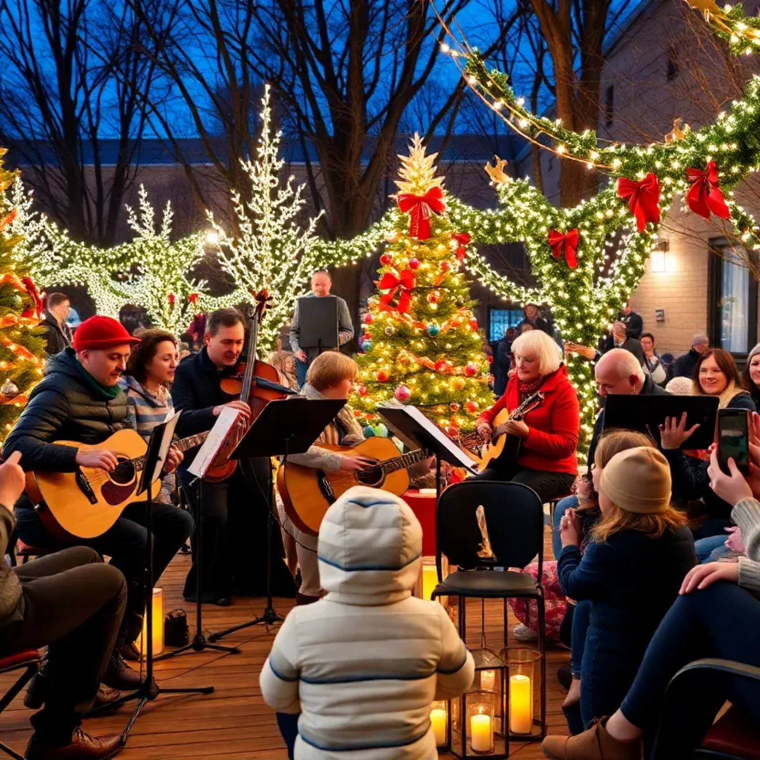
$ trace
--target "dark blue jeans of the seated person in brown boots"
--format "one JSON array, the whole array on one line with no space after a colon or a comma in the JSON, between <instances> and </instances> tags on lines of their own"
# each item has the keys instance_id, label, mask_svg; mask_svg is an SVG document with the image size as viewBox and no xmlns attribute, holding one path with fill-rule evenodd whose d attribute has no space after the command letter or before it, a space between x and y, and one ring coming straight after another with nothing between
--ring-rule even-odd
<instances>
[{"instance_id":1,"label":"dark blue jeans of the seated person in brown boots","mask_svg":"<svg viewBox=\"0 0 760 760\"><path fill-rule=\"evenodd\" d=\"M644 732L654 732L663 709L670 679L687 663L702 657L721 657L760 667L760 601L736 584L722 582L676 599L654 633L641 667L622 702L625 717ZM660 736L652 758L681 760L692 757L724 701L760 721L760 685L718 673L702 673L691 694L673 700L679 710L673 726L677 736ZM669 745L678 742L678 748Z\"/></svg>"}]
</instances>

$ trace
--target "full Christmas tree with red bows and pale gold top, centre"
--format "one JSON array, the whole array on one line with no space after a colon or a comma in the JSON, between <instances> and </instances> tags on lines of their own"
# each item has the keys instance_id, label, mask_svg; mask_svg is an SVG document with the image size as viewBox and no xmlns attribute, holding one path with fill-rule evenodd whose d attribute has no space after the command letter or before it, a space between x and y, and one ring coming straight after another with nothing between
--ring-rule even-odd
<instances>
[{"instance_id":1,"label":"full Christmas tree with red bows and pale gold top, centre","mask_svg":"<svg viewBox=\"0 0 760 760\"><path fill-rule=\"evenodd\" d=\"M411 404L455 436L473 427L493 394L470 287L460 271L470 237L446 216L436 155L426 156L415 135L410 154L400 157L395 198L401 213L385 235L378 293L364 318L353 403L367 416L393 399Z\"/></svg>"}]
</instances>

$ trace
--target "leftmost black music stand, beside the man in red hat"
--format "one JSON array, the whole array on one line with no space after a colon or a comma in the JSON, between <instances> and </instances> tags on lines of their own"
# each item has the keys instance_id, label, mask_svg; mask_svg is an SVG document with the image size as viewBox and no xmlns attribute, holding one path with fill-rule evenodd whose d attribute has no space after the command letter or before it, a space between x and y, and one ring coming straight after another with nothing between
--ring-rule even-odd
<instances>
[{"instance_id":1,"label":"leftmost black music stand, beside the man in red hat","mask_svg":"<svg viewBox=\"0 0 760 760\"><path fill-rule=\"evenodd\" d=\"M169 450L169 445L172 441L174 429L176 427L177 420L179 420L179 414L177 413L169 420L163 423L159 423L154 427L150 433L150 441L148 441L147 451L144 456L143 470L140 478L140 485L136 496L141 496L143 493L147 499L145 501L145 528L147 530L147 542L145 549L145 577L144 577L144 603L145 603L145 631L146 641L145 644L145 681L131 694L112 702L111 705L107 705L109 709L119 707L119 705L125 704L125 702L136 699L138 705L135 711L131 714L128 723L122 732L122 744L126 743L129 732L132 730L132 726L135 725L142 708L149 701L154 701L162 694L212 694L214 692L214 686L200 686L191 687L185 689L163 689L163 687L154 685L153 682L153 494L151 493L151 486L158 480L158 477L163 467L164 461L166 461L166 451ZM97 713L99 711L93 711Z\"/></svg>"}]
</instances>

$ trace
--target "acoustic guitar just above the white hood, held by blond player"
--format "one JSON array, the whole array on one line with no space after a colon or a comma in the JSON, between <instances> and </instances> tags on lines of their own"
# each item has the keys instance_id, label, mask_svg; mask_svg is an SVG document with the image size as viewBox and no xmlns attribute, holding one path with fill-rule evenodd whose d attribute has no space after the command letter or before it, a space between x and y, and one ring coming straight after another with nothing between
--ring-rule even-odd
<instances>
[{"instance_id":1,"label":"acoustic guitar just above the white hood, held by blond player","mask_svg":"<svg viewBox=\"0 0 760 760\"><path fill-rule=\"evenodd\" d=\"M285 511L296 527L312 536L319 534L322 518L330 505L352 486L379 488L401 496L409 489L407 467L429 456L422 449L399 456L391 439L379 437L366 439L356 446L315 445L340 454L367 457L377 464L366 470L338 470L337 473L302 467L290 461L280 467L277 489Z\"/></svg>"}]
</instances>

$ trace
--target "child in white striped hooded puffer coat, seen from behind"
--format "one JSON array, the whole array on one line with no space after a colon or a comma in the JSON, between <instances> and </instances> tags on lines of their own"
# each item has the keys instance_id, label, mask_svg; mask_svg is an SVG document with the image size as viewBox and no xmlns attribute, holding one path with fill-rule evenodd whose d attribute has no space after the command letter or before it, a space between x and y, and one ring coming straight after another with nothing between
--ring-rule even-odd
<instances>
[{"instance_id":1,"label":"child in white striped hooded puffer coat, seen from behind","mask_svg":"<svg viewBox=\"0 0 760 760\"><path fill-rule=\"evenodd\" d=\"M261 670L264 701L299 714L296 760L429 760L434 699L474 663L437 602L412 596L422 528L397 496L356 486L319 529L325 597L290 611Z\"/></svg>"}]
</instances>

